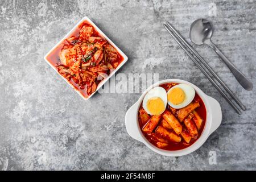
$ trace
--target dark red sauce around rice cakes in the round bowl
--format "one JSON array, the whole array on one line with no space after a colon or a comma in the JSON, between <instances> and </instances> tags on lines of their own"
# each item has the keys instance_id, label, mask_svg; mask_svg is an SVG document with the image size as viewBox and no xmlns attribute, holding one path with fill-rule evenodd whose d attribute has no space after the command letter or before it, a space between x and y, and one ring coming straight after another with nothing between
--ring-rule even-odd
<instances>
[{"instance_id":1,"label":"dark red sauce around rice cakes in the round bowl","mask_svg":"<svg viewBox=\"0 0 256 182\"><path fill-rule=\"evenodd\" d=\"M177 85L177 84L174 83L174 85ZM172 85L172 86L174 86L174 85ZM162 84L162 85L159 85L159 86L163 87L163 88L166 89L167 91L172 87L172 86L170 87L170 84ZM198 131L198 134L199 134L199 135L198 135L197 139L199 139L200 136L201 136L201 134L202 134L202 132L203 132L203 130L204 130L205 121L206 121L206 119L207 119L207 111L206 111L206 108L205 108L205 105L204 105L203 100L199 97L199 95L198 95L197 93L196 93L195 98L194 98L193 101L199 102L200 106L197 107L197 108L195 109L195 111L197 111L197 113L198 113L198 114L200 115L200 117L203 119L203 122L201 123L200 130ZM142 109L142 108L143 108L143 107L142 107L142 104L141 104L141 106L140 106L139 109ZM169 109L168 104L167 104L167 106L166 106L166 110L168 110L168 111L171 112L171 110ZM143 126L142 126L142 124L141 124L141 118L139 117L139 114L138 114L138 118L139 118L139 126L141 127L141 130L142 130ZM160 121L161 121L161 120L162 120L162 119L160 119ZM160 124L160 121L159 121L158 125ZM181 123L181 125L183 125L183 123ZM156 126L155 129L156 129L157 127L158 127L158 126ZM185 126L183 125L183 127L185 127ZM168 130L168 129L167 129L167 130ZM154 130L154 131L155 131L155 130ZM154 133L154 131L153 131L153 133ZM143 131L142 131L142 133L143 133ZM150 137L148 137L147 134L144 134L144 133L143 133L143 135L144 135L144 137L147 138L147 140L148 140L150 143L152 143L152 144L154 144L154 146L156 146L156 141L155 141L155 140L151 140ZM180 137L181 137L181 136L180 136ZM168 143L168 146L165 147L165 148L162 148L162 149L163 149L163 150L169 150L169 151L181 150L181 149L183 149L183 148L187 148L187 147L191 146L193 143L196 142L197 139L193 139L193 138L192 138L189 143L186 143L186 142L184 141L184 139L181 137L181 142L179 142L179 143L169 142L169 143ZM156 146L156 147L158 147L158 146Z\"/></svg>"}]
</instances>

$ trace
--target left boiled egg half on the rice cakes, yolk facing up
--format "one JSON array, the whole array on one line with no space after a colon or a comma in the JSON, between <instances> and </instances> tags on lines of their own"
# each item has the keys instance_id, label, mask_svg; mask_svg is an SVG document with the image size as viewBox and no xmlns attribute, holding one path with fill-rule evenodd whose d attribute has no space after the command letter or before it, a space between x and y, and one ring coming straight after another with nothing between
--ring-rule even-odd
<instances>
[{"instance_id":1,"label":"left boiled egg half on the rice cakes, yolk facing up","mask_svg":"<svg viewBox=\"0 0 256 182\"><path fill-rule=\"evenodd\" d=\"M166 110L167 93L160 86L152 88L144 97L142 106L150 115L159 115Z\"/></svg>"}]
</instances>

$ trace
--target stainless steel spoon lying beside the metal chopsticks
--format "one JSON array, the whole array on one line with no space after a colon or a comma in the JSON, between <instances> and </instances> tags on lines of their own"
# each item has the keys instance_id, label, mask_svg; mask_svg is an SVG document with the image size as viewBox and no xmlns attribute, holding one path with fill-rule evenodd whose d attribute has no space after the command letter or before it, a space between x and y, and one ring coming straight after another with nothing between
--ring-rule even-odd
<instances>
[{"instance_id":1,"label":"stainless steel spoon lying beside the metal chopsticks","mask_svg":"<svg viewBox=\"0 0 256 182\"><path fill-rule=\"evenodd\" d=\"M210 38L212 37L213 27L212 24L207 19L197 19L191 24L189 29L189 39L196 45L207 44L210 46L217 54L221 57L224 63L228 66L230 71L236 77L237 81L246 90L253 89L253 83L243 75L229 60L226 56L218 49Z\"/></svg>"}]
</instances>

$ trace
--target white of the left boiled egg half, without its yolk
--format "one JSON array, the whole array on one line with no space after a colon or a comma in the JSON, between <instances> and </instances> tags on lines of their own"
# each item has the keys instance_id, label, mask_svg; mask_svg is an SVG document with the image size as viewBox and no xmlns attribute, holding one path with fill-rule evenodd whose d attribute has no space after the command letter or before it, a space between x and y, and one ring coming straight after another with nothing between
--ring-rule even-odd
<instances>
[{"instance_id":1,"label":"white of the left boiled egg half, without its yolk","mask_svg":"<svg viewBox=\"0 0 256 182\"><path fill-rule=\"evenodd\" d=\"M146 94L146 96L143 99L142 102L142 106L144 108L144 110L146 110L146 112L150 115L153 115L148 109L147 109L147 101L150 100L150 98L152 97L159 97L162 99L162 101L164 102L164 110L166 110L166 105L167 105L167 93L166 90L160 86L156 86L154 88L152 88L151 90L148 91L148 93ZM164 112L164 110L162 111L162 113ZM160 113L160 114L162 114Z\"/></svg>"}]
</instances>

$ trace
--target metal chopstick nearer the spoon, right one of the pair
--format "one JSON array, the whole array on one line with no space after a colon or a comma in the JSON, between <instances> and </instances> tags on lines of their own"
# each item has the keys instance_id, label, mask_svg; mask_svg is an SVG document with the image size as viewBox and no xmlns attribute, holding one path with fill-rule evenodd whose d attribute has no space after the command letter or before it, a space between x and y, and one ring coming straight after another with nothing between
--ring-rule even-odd
<instances>
[{"instance_id":1,"label":"metal chopstick nearer the spoon, right one of the pair","mask_svg":"<svg viewBox=\"0 0 256 182\"><path fill-rule=\"evenodd\" d=\"M213 69L208 65L208 63L199 55L199 53L196 52L196 50L179 34L178 31L172 26L171 23L166 22L168 26L171 28L172 31L175 32L175 34L183 41L183 43L189 48L191 52L193 52L196 57L201 61L201 63L208 69L210 73L216 78L216 80L223 86L223 88L226 90L226 92L229 93L229 95L234 99L234 101L237 102L237 104L241 107L242 110L246 110L245 106L242 104L242 102L234 95L234 93L224 84L224 82L221 80L220 77L213 71Z\"/></svg>"}]
</instances>

